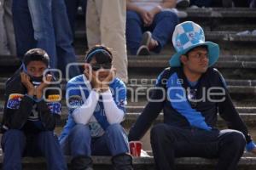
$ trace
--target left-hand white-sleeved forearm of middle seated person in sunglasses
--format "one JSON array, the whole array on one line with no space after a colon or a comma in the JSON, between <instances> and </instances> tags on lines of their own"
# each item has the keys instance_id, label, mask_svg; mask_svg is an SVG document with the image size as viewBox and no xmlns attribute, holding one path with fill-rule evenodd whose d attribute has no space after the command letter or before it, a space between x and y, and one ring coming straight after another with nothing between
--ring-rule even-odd
<instances>
[{"instance_id":1,"label":"left-hand white-sleeved forearm of middle seated person in sunglasses","mask_svg":"<svg viewBox=\"0 0 256 170\"><path fill-rule=\"evenodd\" d=\"M88 99L79 108L75 109L72 113L74 121L80 124L87 124L93 112L96 109L96 105L99 100L99 94L95 91L91 91Z\"/></svg>"}]
</instances>

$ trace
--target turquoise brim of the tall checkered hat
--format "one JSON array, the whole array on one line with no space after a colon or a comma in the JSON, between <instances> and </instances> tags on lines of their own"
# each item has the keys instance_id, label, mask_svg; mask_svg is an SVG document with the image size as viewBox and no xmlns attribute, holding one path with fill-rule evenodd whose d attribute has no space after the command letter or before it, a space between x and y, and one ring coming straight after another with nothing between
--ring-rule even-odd
<instances>
[{"instance_id":1,"label":"turquoise brim of the tall checkered hat","mask_svg":"<svg viewBox=\"0 0 256 170\"><path fill-rule=\"evenodd\" d=\"M206 45L208 48L208 56L209 56L209 66L214 65L218 61L219 57L219 47L217 43L214 42L200 42L195 45L190 46L189 48L185 48L182 51L177 52L172 55L172 58L169 61L171 67L178 67L181 65L180 56L186 54L190 49Z\"/></svg>"}]
</instances>

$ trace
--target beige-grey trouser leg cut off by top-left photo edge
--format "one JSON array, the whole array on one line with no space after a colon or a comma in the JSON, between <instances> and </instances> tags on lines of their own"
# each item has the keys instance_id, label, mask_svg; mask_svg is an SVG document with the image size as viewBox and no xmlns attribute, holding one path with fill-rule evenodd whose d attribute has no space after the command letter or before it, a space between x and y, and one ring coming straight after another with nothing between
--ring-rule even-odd
<instances>
[{"instance_id":1,"label":"beige-grey trouser leg cut off by top-left photo edge","mask_svg":"<svg viewBox=\"0 0 256 170\"><path fill-rule=\"evenodd\" d=\"M0 0L0 54L10 54L7 37L6 37L6 28L4 24L4 0Z\"/></svg>"}]
</instances>

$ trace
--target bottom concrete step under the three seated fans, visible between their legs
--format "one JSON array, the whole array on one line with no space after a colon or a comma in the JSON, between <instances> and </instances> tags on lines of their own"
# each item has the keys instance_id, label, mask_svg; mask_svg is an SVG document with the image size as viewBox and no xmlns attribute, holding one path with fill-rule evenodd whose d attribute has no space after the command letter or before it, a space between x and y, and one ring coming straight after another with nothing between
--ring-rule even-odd
<instances>
[{"instance_id":1,"label":"bottom concrete step under the three seated fans, visible between their legs","mask_svg":"<svg viewBox=\"0 0 256 170\"><path fill-rule=\"evenodd\" d=\"M3 162L3 156L0 157L1 163ZM111 157L110 156L93 156L94 169L96 170L109 170L111 167ZM66 157L67 165L70 167L71 157ZM154 169L154 158L149 157L133 157L133 166L135 170L153 170ZM177 158L175 160L177 170L212 170L217 164L216 159L205 159L200 157L183 157ZM46 169L45 159L42 157L32 158L25 157L22 160L23 169L32 170ZM256 167L256 157L255 156L244 156L238 164L239 170L254 169Z\"/></svg>"}]
</instances>

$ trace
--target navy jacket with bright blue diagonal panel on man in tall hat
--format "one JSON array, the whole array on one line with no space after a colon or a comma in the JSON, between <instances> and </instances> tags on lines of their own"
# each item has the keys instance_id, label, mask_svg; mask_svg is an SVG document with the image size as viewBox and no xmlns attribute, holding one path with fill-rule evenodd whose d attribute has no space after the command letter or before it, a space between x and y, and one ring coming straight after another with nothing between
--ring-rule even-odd
<instances>
[{"instance_id":1,"label":"navy jacket with bright blue diagonal panel on man in tall hat","mask_svg":"<svg viewBox=\"0 0 256 170\"><path fill-rule=\"evenodd\" d=\"M229 128L245 135L247 144L252 142L230 99L224 78L216 69L208 68L193 86L183 74L182 67L166 68L160 73L150 96L151 101L131 127L130 140L141 139L163 110L164 122L168 125L207 131L216 128L219 114Z\"/></svg>"}]
</instances>

